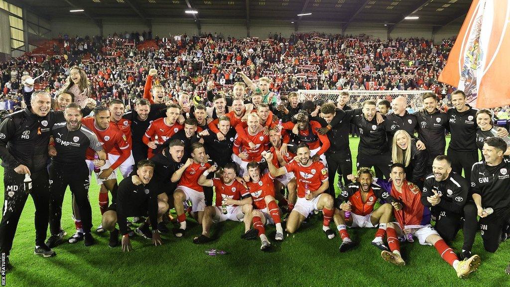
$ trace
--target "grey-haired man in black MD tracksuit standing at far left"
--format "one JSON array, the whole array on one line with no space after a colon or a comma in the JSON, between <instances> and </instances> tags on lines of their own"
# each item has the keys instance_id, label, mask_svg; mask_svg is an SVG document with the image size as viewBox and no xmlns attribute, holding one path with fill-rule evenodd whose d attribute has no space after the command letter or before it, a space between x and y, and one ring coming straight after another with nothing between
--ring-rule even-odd
<instances>
[{"instance_id":1,"label":"grey-haired man in black MD tracksuit standing at far left","mask_svg":"<svg viewBox=\"0 0 510 287\"><path fill-rule=\"evenodd\" d=\"M60 111L50 111L52 99L45 91L33 93L30 106L8 115L0 124L0 159L4 167L4 204L0 223L0 252L9 262L14 234L28 198L23 190L25 174L32 179L36 240L34 253L49 257L55 252L44 241L48 229L49 184L46 162L51 129L64 120ZM7 265L8 269L10 265Z\"/></svg>"}]
</instances>

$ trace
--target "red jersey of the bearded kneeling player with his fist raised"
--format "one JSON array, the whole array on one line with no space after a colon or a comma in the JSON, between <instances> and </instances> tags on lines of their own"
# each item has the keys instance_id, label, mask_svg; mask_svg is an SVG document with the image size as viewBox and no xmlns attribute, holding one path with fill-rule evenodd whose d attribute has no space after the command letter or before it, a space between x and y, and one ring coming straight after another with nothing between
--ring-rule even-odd
<instances>
[{"instance_id":1,"label":"red jersey of the bearded kneeling player with his fist raised","mask_svg":"<svg viewBox=\"0 0 510 287\"><path fill-rule=\"evenodd\" d=\"M302 166L297 161L289 162L284 169L287 173L294 173L297 181L297 196L303 198L304 186L308 184L308 188L315 192L322 185L322 182L328 178L327 169L320 161L313 162L309 166Z\"/></svg>"}]
</instances>

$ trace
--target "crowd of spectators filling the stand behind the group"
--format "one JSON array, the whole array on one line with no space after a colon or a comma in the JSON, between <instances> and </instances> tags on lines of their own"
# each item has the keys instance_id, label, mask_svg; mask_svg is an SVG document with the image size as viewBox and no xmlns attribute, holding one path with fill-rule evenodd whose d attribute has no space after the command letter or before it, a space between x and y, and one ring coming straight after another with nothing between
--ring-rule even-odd
<instances>
[{"instance_id":1,"label":"crowd of spectators filling the stand behind the group","mask_svg":"<svg viewBox=\"0 0 510 287\"><path fill-rule=\"evenodd\" d=\"M130 105L141 98L152 67L160 72L157 83L165 87L166 100L176 99L181 91L188 92L195 102L206 99L209 81L228 97L232 84L241 80L235 71L241 67L253 80L269 77L271 91L279 94L298 89L432 90L444 100L442 108L446 110L451 106L448 95L453 88L439 83L437 77L453 42L320 33L292 34L290 38L274 34L267 39L237 39L217 33L156 35L153 39L150 31L105 38L64 35L55 43L53 56L26 54L0 64L0 109L21 106L20 79L27 71L32 77L47 71L40 81L56 94L69 76L69 68L79 65L87 73L90 97L97 103L117 98ZM508 117L506 110L500 108L496 114Z\"/></svg>"}]
</instances>

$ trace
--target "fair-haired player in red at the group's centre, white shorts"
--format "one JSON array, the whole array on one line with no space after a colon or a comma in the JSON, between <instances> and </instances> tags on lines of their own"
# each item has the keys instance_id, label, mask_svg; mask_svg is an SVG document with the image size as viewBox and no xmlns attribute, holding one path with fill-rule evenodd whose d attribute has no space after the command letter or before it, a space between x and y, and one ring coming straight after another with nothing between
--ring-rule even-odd
<instances>
[{"instance_id":1,"label":"fair-haired player in red at the group's centre, white shorts","mask_svg":"<svg viewBox=\"0 0 510 287\"><path fill-rule=\"evenodd\" d=\"M254 113L249 114L247 123L248 127L245 128L246 139L242 140L242 136L236 136L233 148L234 154L241 159L240 162L236 163L240 165L239 174L242 176L247 174L246 165L248 162L264 161L261 153L268 150L269 145L269 137L259 129L259 116ZM254 146L250 147L248 142L252 142ZM236 158L233 157L233 160L236 161Z\"/></svg>"}]
</instances>

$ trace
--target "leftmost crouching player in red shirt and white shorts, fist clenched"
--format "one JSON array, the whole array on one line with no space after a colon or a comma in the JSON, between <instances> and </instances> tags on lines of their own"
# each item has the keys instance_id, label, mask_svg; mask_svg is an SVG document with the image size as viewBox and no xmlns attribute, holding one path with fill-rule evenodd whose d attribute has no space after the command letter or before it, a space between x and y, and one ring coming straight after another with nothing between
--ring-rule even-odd
<instances>
[{"instance_id":1,"label":"leftmost crouching player in red shirt and white shorts, fist clenched","mask_svg":"<svg viewBox=\"0 0 510 287\"><path fill-rule=\"evenodd\" d=\"M171 182L179 182L173 193L173 206L179 222L179 228L174 230L177 237L182 237L186 230L184 202L191 201L191 216L198 221L198 224L202 224L206 202L203 187L198 184L198 178L203 171L210 167L211 164L207 162L206 150L200 142L195 142L191 145L191 158L188 158L182 168L176 170L170 178Z\"/></svg>"}]
</instances>

